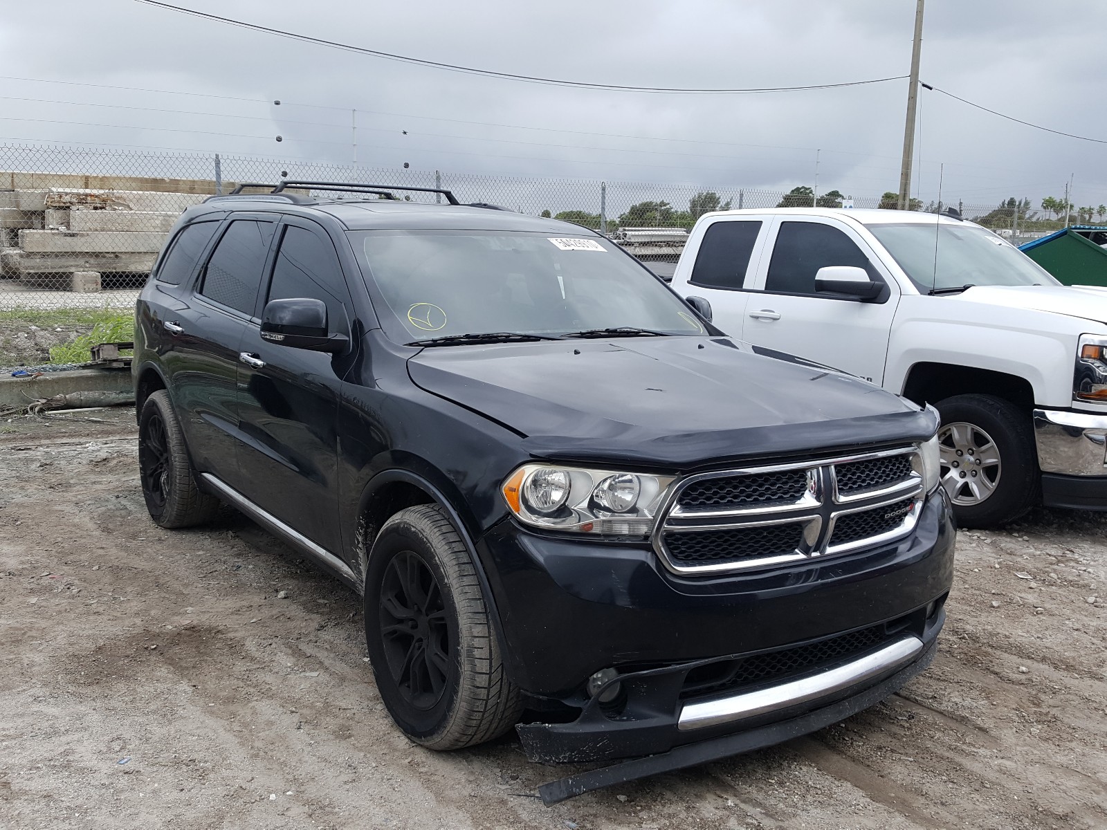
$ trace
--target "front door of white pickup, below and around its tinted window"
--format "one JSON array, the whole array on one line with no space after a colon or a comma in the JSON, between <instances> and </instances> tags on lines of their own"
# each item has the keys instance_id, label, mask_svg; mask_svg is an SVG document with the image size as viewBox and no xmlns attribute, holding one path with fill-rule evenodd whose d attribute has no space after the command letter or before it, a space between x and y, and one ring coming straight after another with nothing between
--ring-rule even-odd
<instances>
[{"instance_id":1,"label":"front door of white pickup, below and around its tinted window","mask_svg":"<svg viewBox=\"0 0 1107 830\"><path fill-rule=\"evenodd\" d=\"M870 302L818 294L815 274L826 266L863 268L886 289ZM743 340L883 383L900 289L848 224L832 217L775 218L753 286Z\"/></svg>"}]
</instances>

